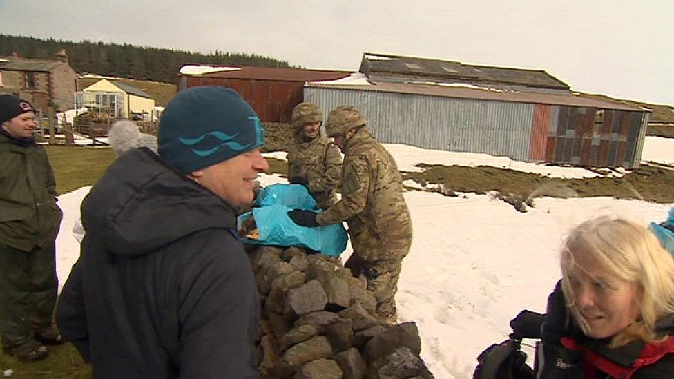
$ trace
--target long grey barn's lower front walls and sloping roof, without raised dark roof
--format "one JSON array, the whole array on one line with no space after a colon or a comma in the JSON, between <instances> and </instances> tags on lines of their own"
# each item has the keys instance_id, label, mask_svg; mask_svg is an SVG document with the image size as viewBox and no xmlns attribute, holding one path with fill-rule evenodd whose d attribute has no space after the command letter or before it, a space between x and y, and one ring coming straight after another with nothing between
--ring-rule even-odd
<instances>
[{"instance_id":1,"label":"long grey barn's lower front walls and sloping roof, without raised dark roof","mask_svg":"<svg viewBox=\"0 0 674 379\"><path fill-rule=\"evenodd\" d=\"M374 82L309 83L306 101L359 108L381 142L525 162L635 168L648 111L570 93Z\"/></svg>"}]
</instances>

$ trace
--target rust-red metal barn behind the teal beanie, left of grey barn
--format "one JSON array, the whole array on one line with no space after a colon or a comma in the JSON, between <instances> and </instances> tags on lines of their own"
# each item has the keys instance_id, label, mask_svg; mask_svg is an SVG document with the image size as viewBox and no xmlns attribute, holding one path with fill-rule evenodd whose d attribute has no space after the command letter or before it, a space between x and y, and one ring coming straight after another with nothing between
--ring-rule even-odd
<instances>
[{"instance_id":1,"label":"rust-red metal barn behind the teal beanie, left of grey barn","mask_svg":"<svg viewBox=\"0 0 674 379\"><path fill-rule=\"evenodd\" d=\"M290 122L293 108L302 102L306 81L335 80L350 72L249 66L209 66L219 72L178 75L178 90L193 86L223 86L238 92L262 122Z\"/></svg>"}]
</instances>

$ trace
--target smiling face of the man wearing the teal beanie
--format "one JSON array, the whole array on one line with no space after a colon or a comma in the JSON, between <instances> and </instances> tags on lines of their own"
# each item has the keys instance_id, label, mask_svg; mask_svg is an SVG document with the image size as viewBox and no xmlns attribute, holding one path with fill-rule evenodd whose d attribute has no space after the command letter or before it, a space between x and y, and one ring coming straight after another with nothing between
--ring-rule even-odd
<instances>
[{"instance_id":1,"label":"smiling face of the man wearing the teal beanie","mask_svg":"<svg viewBox=\"0 0 674 379\"><path fill-rule=\"evenodd\" d=\"M253 188L258 173L267 171L269 164L255 148L191 173L190 177L209 188L229 204L240 207L253 202Z\"/></svg>"}]
</instances>

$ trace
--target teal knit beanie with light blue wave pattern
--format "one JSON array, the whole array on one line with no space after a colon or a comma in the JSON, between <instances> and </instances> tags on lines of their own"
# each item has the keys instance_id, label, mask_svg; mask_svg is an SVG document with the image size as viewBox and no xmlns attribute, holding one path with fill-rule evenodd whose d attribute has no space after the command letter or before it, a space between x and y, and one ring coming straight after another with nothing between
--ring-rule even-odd
<instances>
[{"instance_id":1,"label":"teal knit beanie with light blue wave pattern","mask_svg":"<svg viewBox=\"0 0 674 379\"><path fill-rule=\"evenodd\" d=\"M168 102L157 139L160 157L187 174L262 146L264 130L238 93L199 86Z\"/></svg>"}]
</instances>

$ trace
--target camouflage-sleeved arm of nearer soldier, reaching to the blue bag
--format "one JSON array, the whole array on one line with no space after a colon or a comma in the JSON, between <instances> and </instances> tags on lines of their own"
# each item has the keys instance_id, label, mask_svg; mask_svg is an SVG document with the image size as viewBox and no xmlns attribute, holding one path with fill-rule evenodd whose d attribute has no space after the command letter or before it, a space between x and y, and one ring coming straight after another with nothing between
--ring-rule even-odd
<instances>
[{"instance_id":1,"label":"camouflage-sleeved arm of nearer soldier, reaching to the blue bag","mask_svg":"<svg viewBox=\"0 0 674 379\"><path fill-rule=\"evenodd\" d=\"M342 176L342 199L325 212L316 215L319 225L348 220L365 209L370 186L369 167L365 159L356 159L345 164Z\"/></svg>"}]
</instances>

